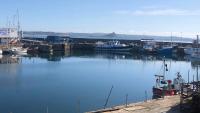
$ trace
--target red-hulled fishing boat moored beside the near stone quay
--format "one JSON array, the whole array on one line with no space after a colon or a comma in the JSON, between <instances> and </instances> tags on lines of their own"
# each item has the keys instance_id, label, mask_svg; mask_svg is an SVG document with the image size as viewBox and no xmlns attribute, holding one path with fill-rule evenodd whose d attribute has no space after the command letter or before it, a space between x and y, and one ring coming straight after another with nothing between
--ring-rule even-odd
<instances>
[{"instance_id":1,"label":"red-hulled fishing boat moored beside the near stone quay","mask_svg":"<svg viewBox=\"0 0 200 113\"><path fill-rule=\"evenodd\" d=\"M173 96L179 93L180 85L184 82L180 73L177 73L177 78L174 79L173 83L172 80L165 79L165 73L168 71L167 64L163 66L163 75L155 75L156 77L156 85L153 86L153 97L160 98L164 96Z\"/></svg>"}]
</instances>

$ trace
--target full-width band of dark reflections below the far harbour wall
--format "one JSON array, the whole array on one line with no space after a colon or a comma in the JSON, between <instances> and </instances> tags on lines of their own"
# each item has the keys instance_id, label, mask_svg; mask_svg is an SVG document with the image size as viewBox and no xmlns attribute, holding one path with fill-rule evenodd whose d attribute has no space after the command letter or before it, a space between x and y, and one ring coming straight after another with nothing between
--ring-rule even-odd
<instances>
[{"instance_id":1,"label":"full-width band of dark reflections below the far harbour wall","mask_svg":"<svg viewBox=\"0 0 200 113\"><path fill-rule=\"evenodd\" d=\"M194 59L190 56L162 56L162 55L143 55L143 54L132 54L129 52L117 53L117 52L94 52L94 51L66 51L66 52L54 52L53 54L32 54L26 56L3 56L0 55L0 64L19 64L22 62L22 57L24 58L40 58L46 59L47 61L61 62L62 59L70 57L80 57L80 58L100 58L100 59L110 59L110 60L123 60L123 59L133 59L133 60L143 60L143 61L155 61L155 60L173 60L173 61L188 61L191 62L192 67L200 65L200 59Z\"/></svg>"}]
</instances>

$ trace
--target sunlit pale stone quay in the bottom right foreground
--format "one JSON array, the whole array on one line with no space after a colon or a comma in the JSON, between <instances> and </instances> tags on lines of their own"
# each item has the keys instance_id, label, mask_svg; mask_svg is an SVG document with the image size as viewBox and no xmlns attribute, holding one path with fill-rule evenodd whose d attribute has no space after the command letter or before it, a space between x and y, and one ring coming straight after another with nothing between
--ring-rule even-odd
<instances>
[{"instance_id":1,"label":"sunlit pale stone quay in the bottom right foreground","mask_svg":"<svg viewBox=\"0 0 200 113\"><path fill-rule=\"evenodd\" d=\"M175 95L86 113L180 113L179 104L180 96Z\"/></svg>"}]
</instances>

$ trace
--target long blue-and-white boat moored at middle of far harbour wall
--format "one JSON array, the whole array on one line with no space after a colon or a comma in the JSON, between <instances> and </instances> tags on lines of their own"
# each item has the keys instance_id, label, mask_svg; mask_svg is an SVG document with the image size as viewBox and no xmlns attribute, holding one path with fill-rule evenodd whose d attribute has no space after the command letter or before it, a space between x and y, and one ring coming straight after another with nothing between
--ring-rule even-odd
<instances>
[{"instance_id":1,"label":"long blue-and-white boat moored at middle of far harbour wall","mask_svg":"<svg viewBox=\"0 0 200 113\"><path fill-rule=\"evenodd\" d=\"M119 41L97 42L95 50L97 51L130 51L131 46L121 44Z\"/></svg>"}]
</instances>

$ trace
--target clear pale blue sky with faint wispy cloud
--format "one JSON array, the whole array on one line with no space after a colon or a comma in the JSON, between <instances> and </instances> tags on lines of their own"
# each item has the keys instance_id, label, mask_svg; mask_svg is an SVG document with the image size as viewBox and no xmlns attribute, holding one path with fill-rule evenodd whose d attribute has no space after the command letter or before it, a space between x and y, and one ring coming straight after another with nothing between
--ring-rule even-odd
<instances>
[{"instance_id":1,"label":"clear pale blue sky with faint wispy cloud","mask_svg":"<svg viewBox=\"0 0 200 113\"><path fill-rule=\"evenodd\" d=\"M200 0L0 0L0 27L183 36L200 33ZM16 25L16 24L15 24Z\"/></svg>"}]
</instances>

